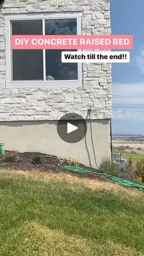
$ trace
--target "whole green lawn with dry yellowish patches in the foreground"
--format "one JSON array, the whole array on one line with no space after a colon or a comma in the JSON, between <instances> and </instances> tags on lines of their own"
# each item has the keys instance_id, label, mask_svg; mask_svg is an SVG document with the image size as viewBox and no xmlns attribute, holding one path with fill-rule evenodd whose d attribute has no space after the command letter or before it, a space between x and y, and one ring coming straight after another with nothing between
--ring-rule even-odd
<instances>
[{"instance_id":1,"label":"whole green lawn with dry yellowish patches in the foreground","mask_svg":"<svg viewBox=\"0 0 144 256\"><path fill-rule=\"evenodd\" d=\"M1 256L144 255L142 191L1 170L0 207Z\"/></svg>"}]
</instances>

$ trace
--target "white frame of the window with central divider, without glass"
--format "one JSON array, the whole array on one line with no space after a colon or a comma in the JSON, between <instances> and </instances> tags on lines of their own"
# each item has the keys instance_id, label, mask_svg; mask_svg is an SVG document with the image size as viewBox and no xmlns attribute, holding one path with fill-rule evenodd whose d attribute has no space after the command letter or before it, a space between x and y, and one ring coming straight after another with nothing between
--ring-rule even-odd
<instances>
[{"instance_id":1,"label":"white frame of the window with central divider, without glass","mask_svg":"<svg viewBox=\"0 0 144 256\"><path fill-rule=\"evenodd\" d=\"M56 88L56 87L82 87L82 63L77 64L77 80L54 80L46 81L46 56L43 49L43 78L44 80L24 80L12 81L12 48L11 48L11 22L23 20L42 20L43 33L45 32L45 20L52 19L68 19L74 18L77 20L77 35L82 32L82 13L26 13L4 15L5 19L5 71L6 71L6 88ZM77 49L77 51L81 51Z\"/></svg>"}]
</instances>

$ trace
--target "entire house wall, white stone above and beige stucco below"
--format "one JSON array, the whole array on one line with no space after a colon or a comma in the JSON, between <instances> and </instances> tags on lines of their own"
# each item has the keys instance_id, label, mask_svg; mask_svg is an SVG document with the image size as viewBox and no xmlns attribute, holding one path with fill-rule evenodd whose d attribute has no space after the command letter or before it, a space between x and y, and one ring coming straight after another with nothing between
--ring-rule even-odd
<instances>
[{"instance_id":1,"label":"entire house wall, white stone above and beige stucco below","mask_svg":"<svg viewBox=\"0 0 144 256\"><path fill-rule=\"evenodd\" d=\"M110 0L5 0L4 4L4 13L45 12L82 12L83 35L110 34ZM56 131L62 115L76 112L88 119L87 109L91 108L97 161L110 156L110 64L83 64L82 87L8 89L5 72L5 20L1 16L0 142L7 150L72 156L95 167L88 120L87 136L76 144L63 142Z\"/></svg>"}]
</instances>

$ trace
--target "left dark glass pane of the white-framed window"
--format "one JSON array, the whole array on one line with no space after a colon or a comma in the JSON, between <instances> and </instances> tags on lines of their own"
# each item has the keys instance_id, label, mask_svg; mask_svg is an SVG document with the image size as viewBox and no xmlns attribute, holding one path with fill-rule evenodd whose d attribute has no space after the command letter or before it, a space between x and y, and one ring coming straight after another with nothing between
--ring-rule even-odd
<instances>
[{"instance_id":1,"label":"left dark glass pane of the white-framed window","mask_svg":"<svg viewBox=\"0 0 144 256\"><path fill-rule=\"evenodd\" d=\"M14 21L12 35L41 35L42 21ZM12 80L43 80L43 50L13 49Z\"/></svg>"}]
</instances>

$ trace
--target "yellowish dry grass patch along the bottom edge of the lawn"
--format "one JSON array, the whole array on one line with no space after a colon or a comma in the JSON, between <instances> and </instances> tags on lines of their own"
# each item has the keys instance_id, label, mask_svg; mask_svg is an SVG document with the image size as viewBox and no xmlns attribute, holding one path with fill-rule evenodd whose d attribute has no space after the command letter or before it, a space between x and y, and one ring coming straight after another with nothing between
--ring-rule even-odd
<instances>
[{"instance_id":1,"label":"yellowish dry grass patch along the bottom edge of the lawn","mask_svg":"<svg viewBox=\"0 0 144 256\"><path fill-rule=\"evenodd\" d=\"M12 239L4 245L1 255L15 256L142 256L135 249L107 241L98 243L79 236L68 236L50 230L35 222L22 225L15 230Z\"/></svg>"}]
</instances>

